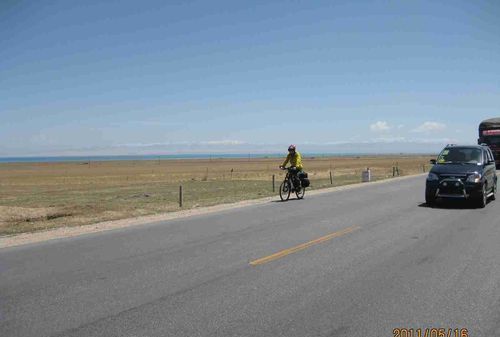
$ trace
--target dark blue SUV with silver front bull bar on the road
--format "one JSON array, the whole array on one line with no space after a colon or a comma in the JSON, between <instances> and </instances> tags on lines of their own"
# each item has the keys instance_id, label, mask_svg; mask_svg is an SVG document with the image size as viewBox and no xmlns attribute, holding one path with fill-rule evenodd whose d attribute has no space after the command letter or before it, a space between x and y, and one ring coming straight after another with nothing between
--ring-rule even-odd
<instances>
[{"instance_id":1,"label":"dark blue SUV with silver front bull bar on the road","mask_svg":"<svg viewBox=\"0 0 500 337\"><path fill-rule=\"evenodd\" d=\"M434 205L437 198L470 199L483 208L488 198L495 200L495 159L487 146L448 145L431 164L425 186L428 205Z\"/></svg>"}]
</instances>

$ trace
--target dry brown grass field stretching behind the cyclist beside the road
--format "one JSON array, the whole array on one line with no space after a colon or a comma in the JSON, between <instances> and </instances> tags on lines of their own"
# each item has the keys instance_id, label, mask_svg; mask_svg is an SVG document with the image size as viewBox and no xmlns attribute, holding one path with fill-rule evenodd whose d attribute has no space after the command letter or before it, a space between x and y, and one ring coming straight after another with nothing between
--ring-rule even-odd
<instances>
[{"instance_id":1,"label":"dry brown grass field stretching behind the cyclist beside the road","mask_svg":"<svg viewBox=\"0 0 500 337\"><path fill-rule=\"evenodd\" d=\"M429 156L304 158L311 188L422 173ZM278 195L281 159L211 159L0 164L0 235ZM425 165L425 166L424 166ZM272 176L276 176L276 192ZM306 193L307 197L307 193Z\"/></svg>"}]
</instances>

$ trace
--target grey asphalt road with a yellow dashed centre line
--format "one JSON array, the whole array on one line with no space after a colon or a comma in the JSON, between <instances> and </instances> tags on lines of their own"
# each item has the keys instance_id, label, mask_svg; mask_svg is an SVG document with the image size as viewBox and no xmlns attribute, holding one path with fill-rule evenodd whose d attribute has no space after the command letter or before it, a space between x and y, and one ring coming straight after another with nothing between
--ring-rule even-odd
<instances>
[{"instance_id":1,"label":"grey asphalt road with a yellow dashed centre line","mask_svg":"<svg viewBox=\"0 0 500 337\"><path fill-rule=\"evenodd\" d=\"M500 336L500 200L424 184L2 249L0 336Z\"/></svg>"}]
</instances>

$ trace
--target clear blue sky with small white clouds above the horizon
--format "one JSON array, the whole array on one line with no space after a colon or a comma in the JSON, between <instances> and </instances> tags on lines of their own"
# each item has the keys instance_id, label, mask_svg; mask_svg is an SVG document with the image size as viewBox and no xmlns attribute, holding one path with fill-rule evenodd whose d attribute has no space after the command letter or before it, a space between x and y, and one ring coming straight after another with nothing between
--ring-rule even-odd
<instances>
[{"instance_id":1,"label":"clear blue sky with small white clouds above the horizon","mask_svg":"<svg viewBox=\"0 0 500 337\"><path fill-rule=\"evenodd\" d=\"M500 116L500 2L0 2L0 156L438 151Z\"/></svg>"}]
</instances>

